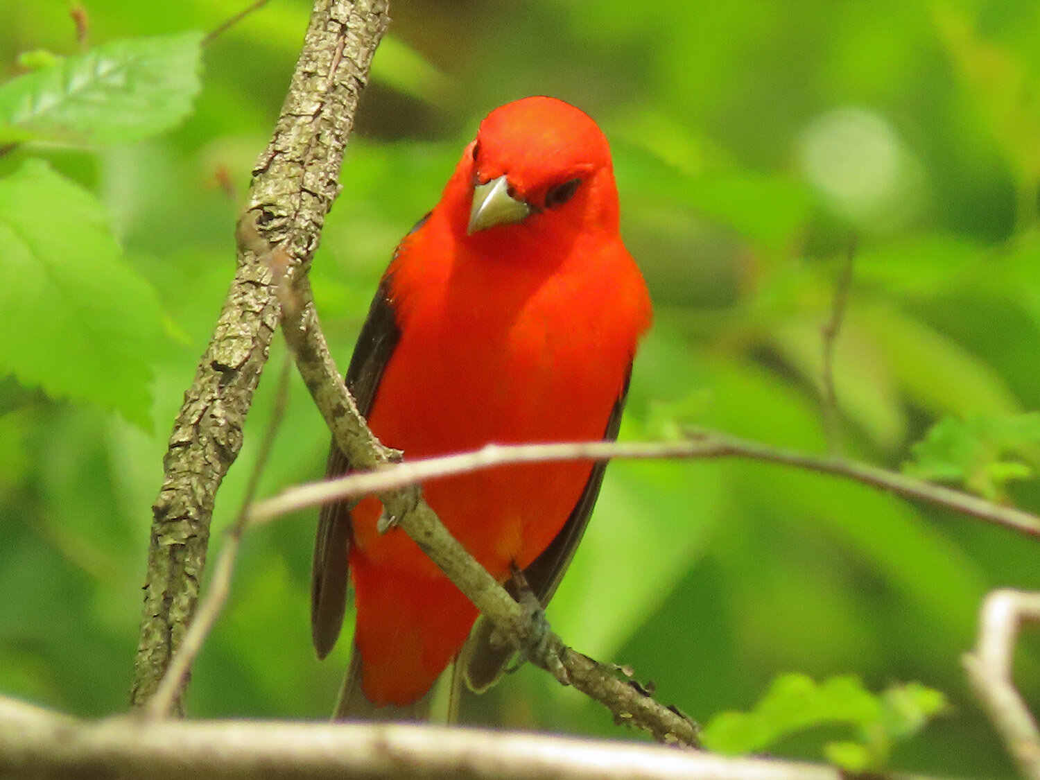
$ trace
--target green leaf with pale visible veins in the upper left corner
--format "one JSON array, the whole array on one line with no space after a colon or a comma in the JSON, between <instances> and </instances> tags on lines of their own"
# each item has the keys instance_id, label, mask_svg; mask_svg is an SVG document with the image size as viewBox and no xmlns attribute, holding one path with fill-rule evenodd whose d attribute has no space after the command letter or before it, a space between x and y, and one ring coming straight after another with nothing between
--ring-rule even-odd
<instances>
[{"instance_id":1,"label":"green leaf with pale visible veins in the upper left corner","mask_svg":"<svg viewBox=\"0 0 1040 780\"><path fill-rule=\"evenodd\" d=\"M202 33L113 41L0 85L0 144L110 144L170 130L199 94Z\"/></svg>"}]
</instances>

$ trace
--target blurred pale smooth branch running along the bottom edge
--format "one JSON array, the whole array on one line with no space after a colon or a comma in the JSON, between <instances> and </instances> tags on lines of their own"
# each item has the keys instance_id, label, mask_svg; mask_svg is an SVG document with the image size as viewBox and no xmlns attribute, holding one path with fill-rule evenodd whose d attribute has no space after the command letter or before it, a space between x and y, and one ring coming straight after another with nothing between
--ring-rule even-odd
<instances>
[{"instance_id":1,"label":"blurred pale smooth branch running along the bottom edge","mask_svg":"<svg viewBox=\"0 0 1040 780\"><path fill-rule=\"evenodd\" d=\"M252 780L840 780L833 768L406 724L76 721L0 699L0 776ZM892 780L898 780L893 776Z\"/></svg>"}]
</instances>

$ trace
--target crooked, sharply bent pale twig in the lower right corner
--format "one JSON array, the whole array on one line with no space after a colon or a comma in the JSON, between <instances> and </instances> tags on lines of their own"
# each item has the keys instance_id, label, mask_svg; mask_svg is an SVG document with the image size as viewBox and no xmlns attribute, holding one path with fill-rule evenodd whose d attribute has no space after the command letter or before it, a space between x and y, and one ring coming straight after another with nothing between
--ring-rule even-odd
<instances>
[{"instance_id":1,"label":"crooked, sharply bent pale twig in the lower right corner","mask_svg":"<svg viewBox=\"0 0 1040 780\"><path fill-rule=\"evenodd\" d=\"M1040 780L1040 730L1012 678L1012 658L1023 622L1040 622L1040 593L999 590L983 602L979 641L964 668L989 719L1023 777Z\"/></svg>"}]
</instances>

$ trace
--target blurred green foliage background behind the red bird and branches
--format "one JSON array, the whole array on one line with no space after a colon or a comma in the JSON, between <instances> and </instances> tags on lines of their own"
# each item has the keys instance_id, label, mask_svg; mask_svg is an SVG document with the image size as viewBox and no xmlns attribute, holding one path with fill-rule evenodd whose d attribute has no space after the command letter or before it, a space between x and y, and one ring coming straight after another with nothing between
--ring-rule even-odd
<instances>
[{"instance_id":1,"label":"blurred green foliage background behind the red bird and branches","mask_svg":"<svg viewBox=\"0 0 1040 780\"><path fill-rule=\"evenodd\" d=\"M88 46L207 31L242 5L86 2ZM1040 5L397 0L392 11L313 269L343 363L393 246L479 119L555 95L612 139L626 241L655 300L624 437L695 423L824 450L821 329L854 234L834 376L849 454L899 468L915 452L945 464L935 476L1040 510L1036 480L1007 469L1009 451L1036 460L1032 418L1018 415L1040 407ZM193 112L171 132L154 134L183 101L140 132L84 139L62 121L51 142L0 157L0 211L63 226L28 255L0 232L11 371L0 378L0 692L81 714L126 705L165 438L232 276L236 212L307 12L271 0L209 43ZM0 18L3 80L81 61L63 0L0 0ZM192 66L178 61L167 75L183 97ZM15 139L24 127L0 129ZM33 177L40 200L11 194ZM51 205L54 190L80 210ZM77 229L78 242L58 240ZM56 294L66 283L96 288L90 306ZM283 354L279 342L274 360ZM261 384L217 531L272 389ZM263 492L319 476L327 444L297 381ZM322 664L310 649L313 525L307 515L251 535L196 667L192 714L330 710L348 643ZM1040 587L1035 561L1008 532L824 476L617 463L549 619L697 719L751 708L785 672L855 673L869 690L919 681L953 711L894 746L891 765L992 777L1010 766L958 658L983 594ZM1026 638L1018 655L1035 704L1038 650ZM474 721L618 734L537 670L467 706ZM813 754L797 738L778 749Z\"/></svg>"}]
</instances>

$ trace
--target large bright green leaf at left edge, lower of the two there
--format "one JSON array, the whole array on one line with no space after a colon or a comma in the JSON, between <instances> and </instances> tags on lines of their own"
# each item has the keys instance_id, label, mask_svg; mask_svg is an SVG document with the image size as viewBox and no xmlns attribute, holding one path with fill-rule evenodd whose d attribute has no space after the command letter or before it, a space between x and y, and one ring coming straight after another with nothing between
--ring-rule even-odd
<instances>
[{"instance_id":1,"label":"large bright green leaf at left edge, lower of the two there","mask_svg":"<svg viewBox=\"0 0 1040 780\"><path fill-rule=\"evenodd\" d=\"M40 160L0 179L0 372L149 425L155 291L93 194Z\"/></svg>"}]
</instances>

